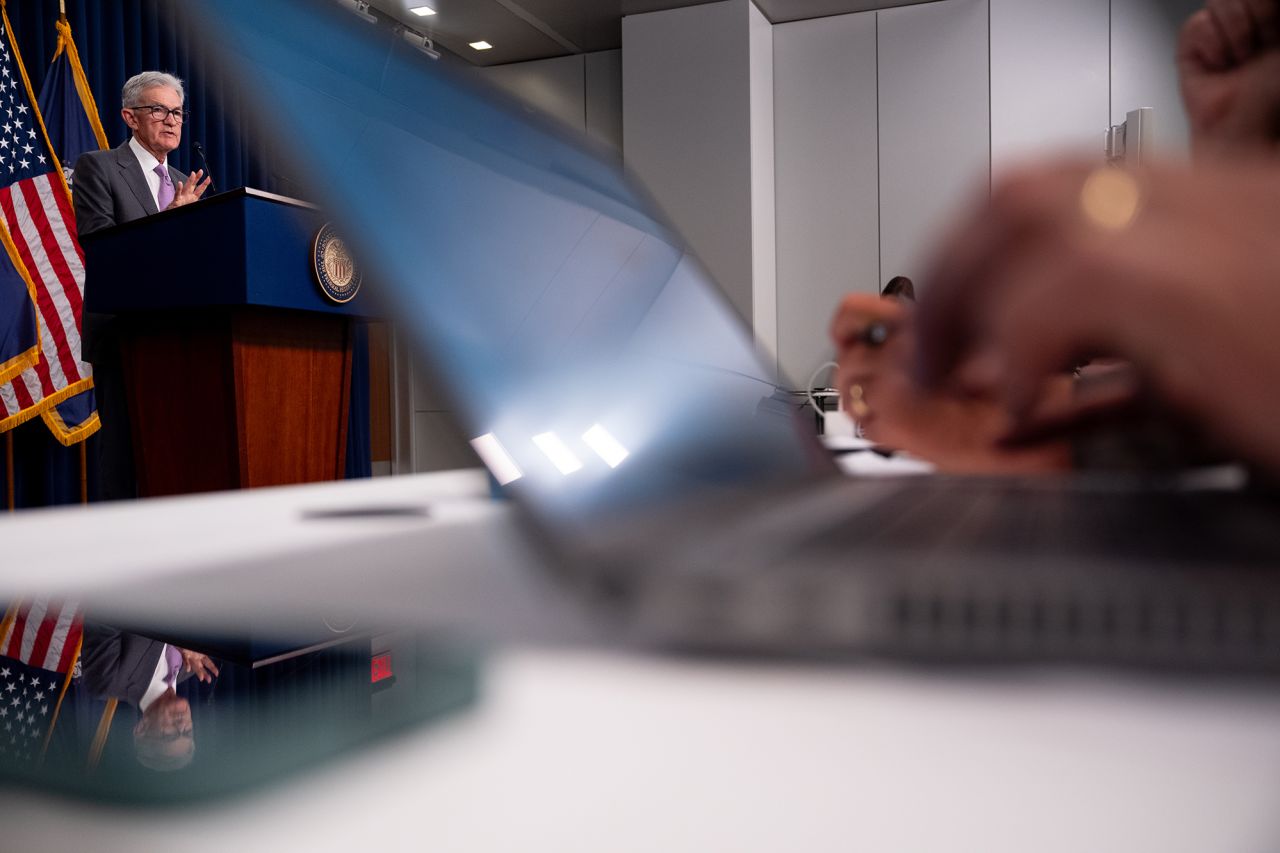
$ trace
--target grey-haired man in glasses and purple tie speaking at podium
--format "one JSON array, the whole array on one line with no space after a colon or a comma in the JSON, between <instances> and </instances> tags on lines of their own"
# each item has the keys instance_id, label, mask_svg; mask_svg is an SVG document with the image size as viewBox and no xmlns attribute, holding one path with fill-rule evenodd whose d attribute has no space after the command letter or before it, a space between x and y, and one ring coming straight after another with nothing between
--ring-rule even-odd
<instances>
[{"instance_id":1,"label":"grey-haired man in glasses and purple tie speaking at podium","mask_svg":"<svg viewBox=\"0 0 1280 853\"><path fill-rule=\"evenodd\" d=\"M204 172L188 177L168 163L186 118L180 79L164 72L136 74L124 83L120 104L120 117L132 131L128 141L84 154L72 172L76 229L82 237L191 204L209 188Z\"/></svg>"}]
</instances>

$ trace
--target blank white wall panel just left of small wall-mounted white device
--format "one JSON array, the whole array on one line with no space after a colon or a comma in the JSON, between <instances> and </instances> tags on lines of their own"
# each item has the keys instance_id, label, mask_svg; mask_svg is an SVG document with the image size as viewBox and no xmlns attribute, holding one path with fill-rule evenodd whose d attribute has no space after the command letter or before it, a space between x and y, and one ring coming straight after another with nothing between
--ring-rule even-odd
<instances>
[{"instance_id":1,"label":"blank white wall panel just left of small wall-mounted white device","mask_svg":"<svg viewBox=\"0 0 1280 853\"><path fill-rule=\"evenodd\" d=\"M991 0L991 147L1001 168L1047 151L1102 158L1108 0Z\"/></svg>"}]
</instances>

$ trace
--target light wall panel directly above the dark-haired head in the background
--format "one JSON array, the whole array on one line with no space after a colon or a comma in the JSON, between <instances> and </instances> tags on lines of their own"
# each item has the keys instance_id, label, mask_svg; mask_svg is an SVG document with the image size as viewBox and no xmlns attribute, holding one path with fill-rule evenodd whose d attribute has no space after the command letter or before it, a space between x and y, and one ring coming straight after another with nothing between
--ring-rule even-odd
<instances>
[{"instance_id":1,"label":"light wall panel directly above the dark-haired head in the background","mask_svg":"<svg viewBox=\"0 0 1280 853\"><path fill-rule=\"evenodd\" d=\"M879 13L881 284L918 286L961 201L988 186L987 0Z\"/></svg>"}]
</instances>

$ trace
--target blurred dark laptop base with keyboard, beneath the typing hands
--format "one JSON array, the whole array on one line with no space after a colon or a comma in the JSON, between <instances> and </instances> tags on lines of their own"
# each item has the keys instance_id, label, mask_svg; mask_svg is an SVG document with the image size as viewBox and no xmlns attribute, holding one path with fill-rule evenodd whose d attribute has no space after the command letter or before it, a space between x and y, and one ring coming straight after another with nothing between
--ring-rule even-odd
<instances>
[{"instance_id":1,"label":"blurred dark laptop base with keyboard, beneath the typing hands","mask_svg":"<svg viewBox=\"0 0 1280 853\"><path fill-rule=\"evenodd\" d=\"M639 622L677 646L960 662L1280 671L1280 505L1107 483L913 479L774 508L658 573ZM837 505L838 506L838 505ZM713 556L714 555L714 556ZM712 565L714 564L714 565Z\"/></svg>"}]
</instances>

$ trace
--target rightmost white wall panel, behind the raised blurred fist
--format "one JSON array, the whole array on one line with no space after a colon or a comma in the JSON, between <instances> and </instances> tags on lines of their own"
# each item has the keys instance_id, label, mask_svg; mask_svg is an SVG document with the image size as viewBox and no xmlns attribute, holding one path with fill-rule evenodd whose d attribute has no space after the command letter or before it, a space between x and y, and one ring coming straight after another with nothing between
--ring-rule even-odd
<instances>
[{"instance_id":1,"label":"rightmost white wall panel, behind the raised blurred fist","mask_svg":"<svg viewBox=\"0 0 1280 853\"><path fill-rule=\"evenodd\" d=\"M1155 108L1155 149L1187 158L1187 110L1174 53L1183 22L1202 0L1111 0L1111 123L1139 106Z\"/></svg>"}]
</instances>

